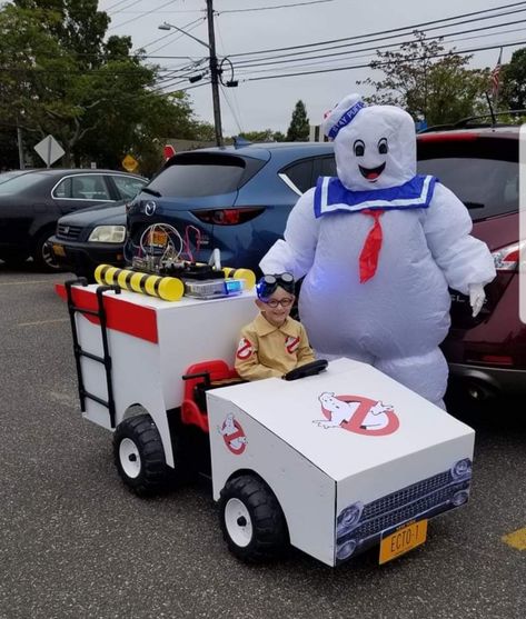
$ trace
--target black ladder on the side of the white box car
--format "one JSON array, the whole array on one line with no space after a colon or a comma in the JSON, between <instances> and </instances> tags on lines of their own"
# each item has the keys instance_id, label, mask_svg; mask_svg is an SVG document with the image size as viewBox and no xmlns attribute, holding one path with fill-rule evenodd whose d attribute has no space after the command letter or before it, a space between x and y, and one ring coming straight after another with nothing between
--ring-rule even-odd
<instances>
[{"instance_id":1,"label":"black ladder on the side of the white box car","mask_svg":"<svg viewBox=\"0 0 526 619\"><path fill-rule=\"evenodd\" d=\"M80 399L80 410L82 412L86 411L86 398L98 402L99 405L106 407L110 415L110 425L111 428L115 428L115 399L113 399L113 385L111 380L111 357L109 353L108 347L108 331L107 331L107 322L106 322L106 308L102 293L107 290L113 290L116 294L120 294L120 288L118 286L99 286L97 288L97 308L96 310L81 308L75 304L73 294L71 292L71 287L75 284L88 286L88 281L86 278L72 279L64 282L66 293L68 296L68 311L69 318L71 321L71 333L73 337L73 353L75 353L75 362L77 367L77 380L79 386L79 399ZM77 333L77 323L75 321L75 313L83 313L88 316L96 316L100 322L100 330L102 335L102 357L98 355L92 355L82 349L79 343L79 337ZM81 357L87 357L88 359L92 359L93 361L98 361L105 366L106 370L106 383L108 388L108 401L102 400L98 396L90 393L85 388L85 381L82 378L82 367L80 363Z\"/></svg>"}]
</instances>

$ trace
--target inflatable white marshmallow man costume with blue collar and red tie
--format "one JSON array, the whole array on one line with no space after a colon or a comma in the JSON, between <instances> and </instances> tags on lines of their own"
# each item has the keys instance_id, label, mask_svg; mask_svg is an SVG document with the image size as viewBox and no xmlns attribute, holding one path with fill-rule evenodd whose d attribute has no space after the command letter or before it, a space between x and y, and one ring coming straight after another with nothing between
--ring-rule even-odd
<instances>
[{"instance_id":1,"label":"inflatable white marshmallow man costume with blue collar and red tie","mask_svg":"<svg viewBox=\"0 0 526 619\"><path fill-rule=\"evenodd\" d=\"M444 407L448 286L474 316L495 277L487 246L469 236L466 207L416 174L411 117L346 97L326 118L337 178L320 178L290 212L265 273L305 276L299 313L320 357L349 357Z\"/></svg>"}]
</instances>

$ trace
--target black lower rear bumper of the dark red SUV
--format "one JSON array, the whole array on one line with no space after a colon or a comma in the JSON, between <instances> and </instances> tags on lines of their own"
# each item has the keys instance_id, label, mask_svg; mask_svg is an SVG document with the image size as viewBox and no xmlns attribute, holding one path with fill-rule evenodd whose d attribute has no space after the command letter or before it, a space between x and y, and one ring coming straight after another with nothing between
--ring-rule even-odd
<instances>
[{"instance_id":1,"label":"black lower rear bumper of the dark red SUV","mask_svg":"<svg viewBox=\"0 0 526 619\"><path fill-rule=\"evenodd\" d=\"M482 386L489 393L519 396L526 393L526 370L466 363L449 363L451 377L466 386Z\"/></svg>"}]
</instances>

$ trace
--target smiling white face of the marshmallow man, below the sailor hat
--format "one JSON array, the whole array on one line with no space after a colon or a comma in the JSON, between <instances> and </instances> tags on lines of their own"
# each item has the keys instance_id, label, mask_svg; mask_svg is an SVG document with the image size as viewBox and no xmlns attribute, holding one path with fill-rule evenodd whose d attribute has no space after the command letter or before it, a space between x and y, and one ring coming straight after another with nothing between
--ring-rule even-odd
<instances>
[{"instance_id":1,"label":"smiling white face of the marshmallow man, below the sailor hat","mask_svg":"<svg viewBox=\"0 0 526 619\"><path fill-rule=\"evenodd\" d=\"M416 174L411 117L395 106L363 108L335 138L339 180L355 191L396 187Z\"/></svg>"}]
</instances>

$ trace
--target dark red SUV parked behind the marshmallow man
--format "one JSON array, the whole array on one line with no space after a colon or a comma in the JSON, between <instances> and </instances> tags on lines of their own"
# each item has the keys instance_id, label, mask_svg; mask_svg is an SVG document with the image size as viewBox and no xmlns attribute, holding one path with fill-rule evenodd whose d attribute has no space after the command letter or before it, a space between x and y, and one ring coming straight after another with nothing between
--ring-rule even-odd
<instances>
[{"instance_id":1,"label":"dark red SUV parked behind the marshmallow man","mask_svg":"<svg viewBox=\"0 0 526 619\"><path fill-rule=\"evenodd\" d=\"M443 343L451 378L475 399L526 392L526 325L519 320L518 127L469 127L420 133L418 171L451 189L472 216L473 234L493 252L496 279L472 318L451 291L451 330Z\"/></svg>"}]
</instances>

